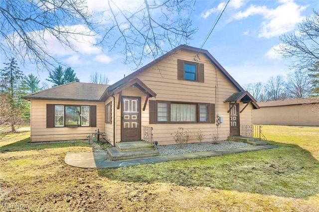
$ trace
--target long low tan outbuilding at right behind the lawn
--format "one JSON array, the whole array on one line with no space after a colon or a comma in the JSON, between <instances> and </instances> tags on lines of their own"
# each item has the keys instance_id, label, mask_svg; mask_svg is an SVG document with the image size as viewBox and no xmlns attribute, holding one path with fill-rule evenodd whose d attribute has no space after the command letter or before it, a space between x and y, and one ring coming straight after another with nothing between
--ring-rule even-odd
<instances>
[{"instance_id":1,"label":"long low tan outbuilding at right behind the lawn","mask_svg":"<svg viewBox=\"0 0 319 212\"><path fill-rule=\"evenodd\" d=\"M258 103L254 124L319 126L319 97Z\"/></svg>"}]
</instances>

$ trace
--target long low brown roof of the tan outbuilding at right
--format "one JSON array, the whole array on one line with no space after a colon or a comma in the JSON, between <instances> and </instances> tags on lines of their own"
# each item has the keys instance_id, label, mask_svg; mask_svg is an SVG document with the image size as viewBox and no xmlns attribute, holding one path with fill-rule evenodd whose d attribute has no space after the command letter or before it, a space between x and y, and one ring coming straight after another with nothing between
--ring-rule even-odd
<instances>
[{"instance_id":1,"label":"long low brown roof of the tan outbuilding at right","mask_svg":"<svg viewBox=\"0 0 319 212\"><path fill-rule=\"evenodd\" d=\"M267 107L267 106L307 105L307 104L316 104L316 103L319 104L319 97L260 102L258 103L258 105L260 107Z\"/></svg>"}]
</instances>

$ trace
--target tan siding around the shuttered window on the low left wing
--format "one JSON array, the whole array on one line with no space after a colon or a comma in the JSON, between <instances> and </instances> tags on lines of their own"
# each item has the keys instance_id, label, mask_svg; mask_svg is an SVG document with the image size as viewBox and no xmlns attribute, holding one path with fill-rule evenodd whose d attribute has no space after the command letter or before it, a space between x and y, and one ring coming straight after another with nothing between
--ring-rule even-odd
<instances>
[{"instance_id":1,"label":"tan siding around the shuttered window on the low left wing","mask_svg":"<svg viewBox=\"0 0 319 212\"><path fill-rule=\"evenodd\" d=\"M31 100L31 142L87 139L86 135L104 129L104 103L83 101ZM97 107L96 127L52 127L46 128L46 104L87 105Z\"/></svg>"}]
</instances>

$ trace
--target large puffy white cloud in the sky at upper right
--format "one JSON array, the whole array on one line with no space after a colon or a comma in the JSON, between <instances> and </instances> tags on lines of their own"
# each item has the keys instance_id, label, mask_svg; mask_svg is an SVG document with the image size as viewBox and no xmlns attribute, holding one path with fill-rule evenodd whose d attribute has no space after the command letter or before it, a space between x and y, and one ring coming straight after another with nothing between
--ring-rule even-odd
<instances>
[{"instance_id":1,"label":"large puffy white cloud in the sky at upper right","mask_svg":"<svg viewBox=\"0 0 319 212\"><path fill-rule=\"evenodd\" d=\"M265 38L279 36L293 30L296 24L304 18L301 12L308 7L308 5L298 5L293 0L280 0L279 2L282 4L274 9L252 4L245 11L237 12L233 17L243 19L252 15L261 15L264 21L258 36Z\"/></svg>"}]
</instances>

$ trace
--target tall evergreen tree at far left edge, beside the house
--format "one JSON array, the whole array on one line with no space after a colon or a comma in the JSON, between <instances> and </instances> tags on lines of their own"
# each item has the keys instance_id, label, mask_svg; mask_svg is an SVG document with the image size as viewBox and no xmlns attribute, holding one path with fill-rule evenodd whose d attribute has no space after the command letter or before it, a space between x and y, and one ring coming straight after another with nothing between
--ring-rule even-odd
<instances>
[{"instance_id":1,"label":"tall evergreen tree at far left edge, beside the house","mask_svg":"<svg viewBox=\"0 0 319 212\"><path fill-rule=\"evenodd\" d=\"M7 67L0 70L0 124L9 124L15 132L15 125L22 124L28 108L28 103L21 99L26 94L24 75L14 58L3 64Z\"/></svg>"}]
</instances>

